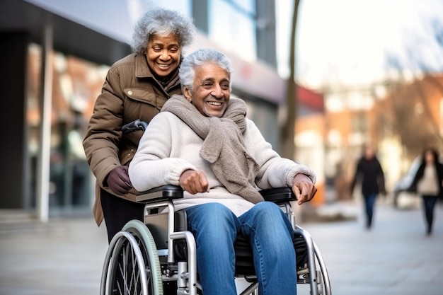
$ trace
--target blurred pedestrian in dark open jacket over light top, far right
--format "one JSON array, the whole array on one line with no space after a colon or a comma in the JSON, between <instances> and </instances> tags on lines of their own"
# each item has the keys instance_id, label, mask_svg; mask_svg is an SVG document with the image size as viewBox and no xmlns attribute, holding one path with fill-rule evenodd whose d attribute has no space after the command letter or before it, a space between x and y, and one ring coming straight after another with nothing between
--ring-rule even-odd
<instances>
[{"instance_id":1,"label":"blurred pedestrian in dark open jacket over light top, far right","mask_svg":"<svg viewBox=\"0 0 443 295\"><path fill-rule=\"evenodd\" d=\"M420 167L415 174L410 190L417 192L423 199L426 234L430 236L435 204L437 199L443 195L443 164L439 162L437 150L427 148L423 151Z\"/></svg>"}]
</instances>

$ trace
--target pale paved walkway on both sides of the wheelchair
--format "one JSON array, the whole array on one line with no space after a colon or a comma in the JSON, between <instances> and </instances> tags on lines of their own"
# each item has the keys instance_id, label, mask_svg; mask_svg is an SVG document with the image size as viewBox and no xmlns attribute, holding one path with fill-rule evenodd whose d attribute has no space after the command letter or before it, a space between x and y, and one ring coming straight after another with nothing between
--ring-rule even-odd
<instances>
[{"instance_id":1,"label":"pale paved walkway on both sides of the wheelchair","mask_svg":"<svg viewBox=\"0 0 443 295\"><path fill-rule=\"evenodd\" d=\"M360 213L359 204L337 208ZM443 209L430 237L418 209L378 204L375 214L371 231L361 218L301 224L321 249L333 294L442 295ZM0 295L97 295L106 248L105 228L92 218L40 224L0 211Z\"/></svg>"}]
</instances>

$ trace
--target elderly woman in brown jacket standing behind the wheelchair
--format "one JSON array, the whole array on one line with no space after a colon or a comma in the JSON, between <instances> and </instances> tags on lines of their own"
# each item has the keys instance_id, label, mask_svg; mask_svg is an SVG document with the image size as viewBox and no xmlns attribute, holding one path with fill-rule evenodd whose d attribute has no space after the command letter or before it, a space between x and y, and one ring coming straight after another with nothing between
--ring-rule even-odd
<instances>
[{"instance_id":1,"label":"elderly woman in brown jacket standing behind the wheelchair","mask_svg":"<svg viewBox=\"0 0 443 295\"><path fill-rule=\"evenodd\" d=\"M84 149L97 179L93 214L98 225L105 219L109 241L127 221L143 220L143 205L131 201L137 191L127 175L142 131L123 134L122 126L150 122L168 98L181 94L178 66L194 34L192 20L176 11L144 13L134 26L133 53L110 67L96 100Z\"/></svg>"}]
</instances>

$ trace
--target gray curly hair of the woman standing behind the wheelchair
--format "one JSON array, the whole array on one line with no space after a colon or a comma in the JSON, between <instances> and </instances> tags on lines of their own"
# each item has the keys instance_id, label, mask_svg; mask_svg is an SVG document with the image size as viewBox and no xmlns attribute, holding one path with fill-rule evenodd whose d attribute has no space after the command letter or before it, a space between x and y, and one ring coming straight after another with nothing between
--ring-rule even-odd
<instances>
[{"instance_id":1,"label":"gray curly hair of the woman standing behind the wheelchair","mask_svg":"<svg viewBox=\"0 0 443 295\"><path fill-rule=\"evenodd\" d=\"M151 35L177 35L180 47L191 44L195 35L192 19L178 11L154 8L144 13L134 25L132 50L144 53Z\"/></svg>"}]
</instances>

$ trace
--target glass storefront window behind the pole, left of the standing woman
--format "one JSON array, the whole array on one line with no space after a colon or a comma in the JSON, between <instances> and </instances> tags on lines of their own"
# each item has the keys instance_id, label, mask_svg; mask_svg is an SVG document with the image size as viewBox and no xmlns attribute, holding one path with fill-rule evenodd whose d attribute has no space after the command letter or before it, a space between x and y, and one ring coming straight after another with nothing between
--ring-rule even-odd
<instances>
[{"instance_id":1,"label":"glass storefront window behind the pole, left of the standing woman","mask_svg":"<svg viewBox=\"0 0 443 295\"><path fill-rule=\"evenodd\" d=\"M35 206L37 157L40 146L40 45L28 47L26 122L30 163L30 199ZM60 52L52 60L52 112L50 139L50 209L89 209L93 193L91 169L82 141L93 105L105 81L108 66L100 66Z\"/></svg>"}]
</instances>

